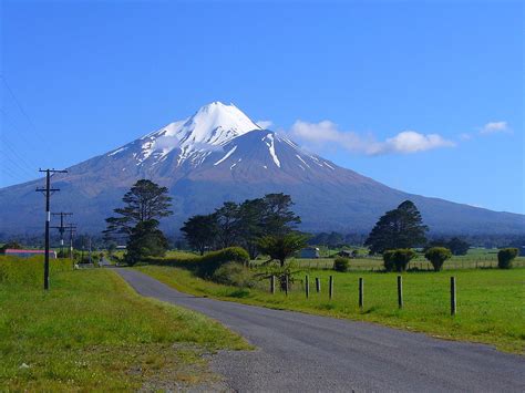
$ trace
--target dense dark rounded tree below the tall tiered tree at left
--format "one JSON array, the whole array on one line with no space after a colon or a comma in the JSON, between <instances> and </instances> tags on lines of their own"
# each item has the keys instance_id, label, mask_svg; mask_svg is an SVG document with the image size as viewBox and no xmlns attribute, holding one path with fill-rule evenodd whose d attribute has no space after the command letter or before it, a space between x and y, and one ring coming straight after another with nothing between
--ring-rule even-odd
<instances>
[{"instance_id":1,"label":"dense dark rounded tree below the tall tiered tree at left","mask_svg":"<svg viewBox=\"0 0 525 393\"><path fill-rule=\"evenodd\" d=\"M133 266L145 257L164 257L167 247L167 239L158 229L156 219L140 221L131 231L125 261Z\"/></svg>"}]
</instances>

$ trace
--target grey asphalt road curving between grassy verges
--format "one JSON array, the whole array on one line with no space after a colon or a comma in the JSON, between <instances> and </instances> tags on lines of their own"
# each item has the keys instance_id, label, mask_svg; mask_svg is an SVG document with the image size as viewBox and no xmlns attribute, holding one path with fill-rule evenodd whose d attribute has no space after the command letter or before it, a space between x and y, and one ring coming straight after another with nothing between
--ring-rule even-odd
<instances>
[{"instance_id":1,"label":"grey asphalt road curving between grassy verges","mask_svg":"<svg viewBox=\"0 0 525 393\"><path fill-rule=\"evenodd\" d=\"M212 366L239 392L525 392L525 358L370 323L178 292L116 270L141 294L209 316L257 351L222 352Z\"/></svg>"}]
</instances>

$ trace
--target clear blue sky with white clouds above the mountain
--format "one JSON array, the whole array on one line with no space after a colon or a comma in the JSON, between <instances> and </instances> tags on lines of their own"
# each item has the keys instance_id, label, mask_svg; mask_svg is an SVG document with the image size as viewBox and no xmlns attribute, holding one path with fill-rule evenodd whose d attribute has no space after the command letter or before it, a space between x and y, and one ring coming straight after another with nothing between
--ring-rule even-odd
<instances>
[{"instance_id":1,"label":"clear blue sky with white clouds above the mountain","mask_svg":"<svg viewBox=\"0 0 525 393\"><path fill-rule=\"evenodd\" d=\"M0 186L218 100L389 186L525 213L521 2L4 0L1 24Z\"/></svg>"}]
</instances>

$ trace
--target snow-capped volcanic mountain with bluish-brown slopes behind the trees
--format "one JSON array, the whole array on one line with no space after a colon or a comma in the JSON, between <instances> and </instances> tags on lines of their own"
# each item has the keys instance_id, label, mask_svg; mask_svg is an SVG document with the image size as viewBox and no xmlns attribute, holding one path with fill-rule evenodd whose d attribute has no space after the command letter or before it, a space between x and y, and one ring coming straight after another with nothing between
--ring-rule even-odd
<instances>
[{"instance_id":1,"label":"snow-capped volcanic mountain with bluish-brown slopes behind the trees","mask_svg":"<svg viewBox=\"0 0 525 393\"><path fill-rule=\"evenodd\" d=\"M303 151L286 135L260 128L235 105L219 102L58 175L53 185L61 192L52 207L75 213L79 227L99 231L123 194L144 177L168 187L174 198L175 214L164 223L171 232L187 217L213 211L225 200L266 193L290 194L302 228L310 231L367 231L385 210L411 199L437 232L525 232L525 216L390 188ZM41 230L42 200L34 193L41 183L0 189L0 232Z\"/></svg>"}]
</instances>

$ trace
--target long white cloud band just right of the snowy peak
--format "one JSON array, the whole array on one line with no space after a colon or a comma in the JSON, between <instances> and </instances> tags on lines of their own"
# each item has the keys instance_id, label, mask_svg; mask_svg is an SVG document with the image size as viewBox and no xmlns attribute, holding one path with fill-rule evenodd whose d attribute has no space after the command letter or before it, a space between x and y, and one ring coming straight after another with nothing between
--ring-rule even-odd
<instances>
[{"instance_id":1,"label":"long white cloud band just right of the snowy peak","mask_svg":"<svg viewBox=\"0 0 525 393\"><path fill-rule=\"evenodd\" d=\"M342 132L330 121L307 123L297 121L290 130L292 137L307 145L340 146L353 153L368 155L411 154L440 147L453 147L455 144L437 134L421 134L415 131L403 131L385 141L377 141L373 136L362 136L354 132Z\"/></svg>"}]
</instances>

